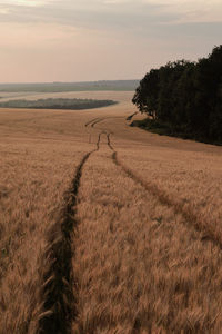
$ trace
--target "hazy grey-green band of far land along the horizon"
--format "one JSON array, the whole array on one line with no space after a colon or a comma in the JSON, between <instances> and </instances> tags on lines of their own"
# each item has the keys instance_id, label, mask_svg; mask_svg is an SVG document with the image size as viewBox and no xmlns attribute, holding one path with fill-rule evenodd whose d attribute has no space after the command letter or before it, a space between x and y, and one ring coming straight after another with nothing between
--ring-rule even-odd
<instances>
[{"instance_id":1,"label":"hazy grey-green band of far land along the horizon","mask_svg":"<svg viewBox=\"0 0 222 334\"><path fill-rule=\"evenodd\" d=\"M0 91L62 92L87 90L135 90L139 80L101 80L88 82L0 84Z\"/></svg>"}]
</instances>

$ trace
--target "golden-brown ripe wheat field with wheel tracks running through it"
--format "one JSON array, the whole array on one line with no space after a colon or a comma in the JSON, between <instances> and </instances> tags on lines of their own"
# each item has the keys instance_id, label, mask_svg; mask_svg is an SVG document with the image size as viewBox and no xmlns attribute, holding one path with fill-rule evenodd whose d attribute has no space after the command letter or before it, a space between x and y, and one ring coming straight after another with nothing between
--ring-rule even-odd
<instances>
[{"instance_id":1,"label":"golden-brown ripe wheat field with wheel tracks running through it","mask_svg":"<svg viewBox=\"0 0 222 334\"><path fill-rule=\"evenodd\" d=\"M222 148L60 97L119 105L0 110L0 334L221 333Z\"/></svg>"}]
</instances>

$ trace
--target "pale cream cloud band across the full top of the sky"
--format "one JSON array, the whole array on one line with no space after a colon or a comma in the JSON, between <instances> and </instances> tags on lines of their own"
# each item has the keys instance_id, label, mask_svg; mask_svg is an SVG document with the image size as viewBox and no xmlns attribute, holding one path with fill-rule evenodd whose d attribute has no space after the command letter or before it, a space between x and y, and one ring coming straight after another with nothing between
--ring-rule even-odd
<instances>
[{"instance_id":1,"label":"pale cream cloud band across the full top of the sky","mask_svg":"<svg viewBox=\"0 0 222 334\"><path fill-rule=\"evenodd\" d=\"M218 0L10 0L0 4L0 20L43 22L89 29L137 31L153 26L222 22Z\"/></svg>"}]
</instances>

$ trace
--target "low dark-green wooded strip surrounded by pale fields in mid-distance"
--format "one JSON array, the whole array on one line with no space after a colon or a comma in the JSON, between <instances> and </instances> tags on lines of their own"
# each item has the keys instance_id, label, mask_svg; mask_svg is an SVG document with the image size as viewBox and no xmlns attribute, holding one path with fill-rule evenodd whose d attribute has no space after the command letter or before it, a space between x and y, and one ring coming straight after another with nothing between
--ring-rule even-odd
<instances>
[{"instance_id":1,"label":"low dark-green wooded strip surrounded by pale fields in mid-distance","mask_svg":"<svg viewBox=\"0 0 222 334\"><path fill-rule=\"evenodd\" d=\"M10 100L0 102L0 108L36 108L36 109L91 109L115 105L112 100L92 100L92 99L39 99L39 100Z\"/></svg>"}]
</instances>

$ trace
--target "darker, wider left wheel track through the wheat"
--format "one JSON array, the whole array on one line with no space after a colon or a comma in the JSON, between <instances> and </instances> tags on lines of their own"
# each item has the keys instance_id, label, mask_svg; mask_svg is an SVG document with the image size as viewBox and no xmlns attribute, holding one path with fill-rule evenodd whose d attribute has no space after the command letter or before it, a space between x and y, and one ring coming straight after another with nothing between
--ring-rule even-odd
<instances>
[{"instance_id":1,"label":"darker, wider left wheel track through the wheat","mask_svg":"<svg viewBox=\"0 0 222 334\"><path fill-rule=\"evenodd\" d=\"M48 232L46 252L42 263L49 263L43 274L43 312L39 320L39 333L71 334L72 320L77 317L75 285L72 273L73 246L72 237L78 225L77 204L80 180L84 164L89 157L100 149L103 132L99 134L95 149L87 153L75 169L71 189L65 194L65 207L58 220Z\"/></svg>"}]
</instances>

